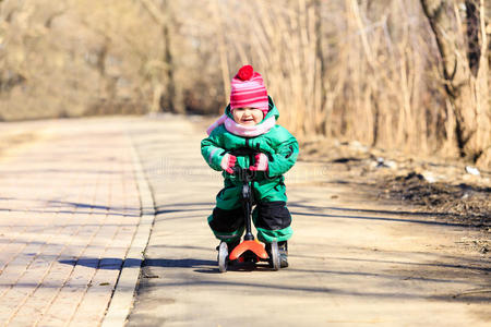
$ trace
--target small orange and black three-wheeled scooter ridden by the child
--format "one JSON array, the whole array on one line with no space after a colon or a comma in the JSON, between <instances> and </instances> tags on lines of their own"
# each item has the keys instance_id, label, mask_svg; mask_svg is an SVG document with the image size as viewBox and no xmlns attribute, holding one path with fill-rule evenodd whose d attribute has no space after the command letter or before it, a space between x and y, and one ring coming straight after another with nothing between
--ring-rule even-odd
<instances>
[{"instance_id":1,"label":"small orange and black three-wheeled scooter ridden by the child","mask_svg":"<svg viewBox=\"0 0 491 327\"><path fill-rule=\"evenodd\" d=\"M254 158L254 154L251 153L251 149L248 149L247 153L251 159ZM237 245L230 254L228 253L229 250L227 243L224 241L220 242L218 246L218 269L220 272L226 272L228 263L231 261L238 261L239 263L253 263L254 265L258 262L262 261L267 262L273 270L279 270L280 261L278 243L276 241L273 241L271 243L271 255L268 255L268 253L264 249L264 245L258 242L252 234L252 182L254 181L255 171L233 167L233 174L239 177L239 179L242 181L241 202L243 214L246 217L246 234L243 237L243 241L239 245Z\"/></svg>"}]
</instances>

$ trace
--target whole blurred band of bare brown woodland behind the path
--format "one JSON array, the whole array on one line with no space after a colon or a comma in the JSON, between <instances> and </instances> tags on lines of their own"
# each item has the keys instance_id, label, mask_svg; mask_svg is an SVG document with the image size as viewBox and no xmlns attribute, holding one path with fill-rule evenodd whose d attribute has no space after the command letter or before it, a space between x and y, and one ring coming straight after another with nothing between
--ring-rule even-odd
<instances>
[{"instance_id":1,"label":"whole blurred band of bare brown woodland behind the path","mask_svg":"<svg viewBox=\"0 0 491 327\"><path fill-rule=\"evenodd\" d=\"M491 1L0 0L0 121L219 114L250 63L299 138L491 167Z\"/></svg>"}]
</instances>

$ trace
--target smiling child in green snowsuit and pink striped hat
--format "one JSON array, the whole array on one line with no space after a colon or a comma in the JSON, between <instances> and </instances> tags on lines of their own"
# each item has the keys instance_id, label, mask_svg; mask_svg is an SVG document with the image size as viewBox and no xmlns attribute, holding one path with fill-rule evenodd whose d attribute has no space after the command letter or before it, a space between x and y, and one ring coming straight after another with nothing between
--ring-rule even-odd
<instances>
[{"instance_id":1,"label":"smiling child in green snowsuit and pink striped hat","mask_svg":"<svg viewBox=\"0 0 491 327\"><path fill-rule=\"evenodd\" d=\"M256 171L253 198L256 207L252 219L258 239L266 244L278 242L280 266L288 266L287 240L291 238L291 216L286 207L287 196L284 173L297 160L297 140L276 124L279 113L264 87L263 78L251 65L242 66L231 80L230 104L208 130L201 142L201 153L206 162L221 171L225 187L216 196L216 207L208 225L218 240L227 242L229 253L240 243L246 220L241 206L242 182L233 175L232 168ZM235 149L256 149L254 162L249 156L233 156Z\"/></svg>"}]
</instances>

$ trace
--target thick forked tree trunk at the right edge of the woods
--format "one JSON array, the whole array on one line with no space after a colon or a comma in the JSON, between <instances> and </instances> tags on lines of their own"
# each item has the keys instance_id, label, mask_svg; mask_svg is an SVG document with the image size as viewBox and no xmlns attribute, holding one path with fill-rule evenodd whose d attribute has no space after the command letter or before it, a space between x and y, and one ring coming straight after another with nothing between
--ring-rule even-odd
<instances>
[{"instance_id":1,"label":"thick forked tree trunk at the right edge of the woods","mask_svg":"<svg viewBox=\"0 0 491 327\"><path fill-rule=\"evenodd\" d=\"M465 49L459 48L457 43L453 1L421 0L421 4L442 57L444 87L456 117L455 130L460 156L488 166L491 160L491 118L488 45L481 28L484 24L483 0L465 0Z\"/></svg>"}]
</instances>

